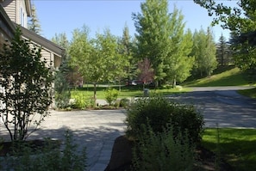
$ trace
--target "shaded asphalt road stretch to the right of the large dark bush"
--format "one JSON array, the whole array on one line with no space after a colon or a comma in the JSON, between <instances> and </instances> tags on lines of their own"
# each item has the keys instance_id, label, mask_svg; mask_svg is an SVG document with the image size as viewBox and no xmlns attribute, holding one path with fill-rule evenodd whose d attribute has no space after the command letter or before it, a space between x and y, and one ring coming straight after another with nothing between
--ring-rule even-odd
<instances>
[{"instance_id":1,"label":"shaded asphalt road stretch to the right of the large dark bush","mask_svg":"<svg viewBox=\"0 0 256 171\"><path fill-rule=\"evenodd\" d=\"M197 106L203 113L205 127L256 128L256 100L239 95L238 89L253 87L193 88L171 98Z\"/></svg>"}]
</instances>

